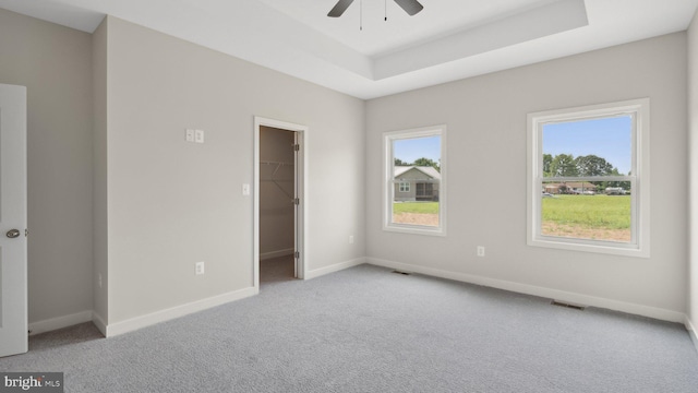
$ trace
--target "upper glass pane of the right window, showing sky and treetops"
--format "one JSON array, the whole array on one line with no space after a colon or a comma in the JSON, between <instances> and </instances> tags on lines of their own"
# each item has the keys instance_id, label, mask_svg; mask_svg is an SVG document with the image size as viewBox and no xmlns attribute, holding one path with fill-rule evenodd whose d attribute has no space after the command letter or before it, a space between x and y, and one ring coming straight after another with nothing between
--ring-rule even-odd
<instances>
[{"instance_id":1,"label":"upper glass pane of the right window, showing sky and treetops","mask_svg":"<svg viewBox=\"0 0 698 393\"><path fill-rule=\"evenodd\" d=\"M630 175L633 117L543 126L543 177Z\"/></svg>"}]
</instances>

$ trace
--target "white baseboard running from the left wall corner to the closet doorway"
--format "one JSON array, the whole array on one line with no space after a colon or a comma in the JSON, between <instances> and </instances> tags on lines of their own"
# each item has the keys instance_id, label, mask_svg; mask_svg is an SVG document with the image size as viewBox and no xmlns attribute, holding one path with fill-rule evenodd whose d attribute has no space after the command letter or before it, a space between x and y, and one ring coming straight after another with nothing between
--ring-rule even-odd
<instances>
[{"instance_id":1,"label":"white baseboard running from the left wall corner to the closet doorway","mask_svg":"<svg viewBox=\"0 0 698 393\"><path fill-rule=\"evenodd\" d=\"M190 313L203 311L216 306L225 305L230 301L240 300L255 295L255 288L244 288L228 294L214 296L207 299L192 301L190 303L172 307L166 310L156 311L146 315L132 318L125 321L109 323L105 326L105 336L113 337L119 334L132 332L139 329L154 325L156 323L169 321L176 318L184 317Z\"/></svg>"}]
</instances>

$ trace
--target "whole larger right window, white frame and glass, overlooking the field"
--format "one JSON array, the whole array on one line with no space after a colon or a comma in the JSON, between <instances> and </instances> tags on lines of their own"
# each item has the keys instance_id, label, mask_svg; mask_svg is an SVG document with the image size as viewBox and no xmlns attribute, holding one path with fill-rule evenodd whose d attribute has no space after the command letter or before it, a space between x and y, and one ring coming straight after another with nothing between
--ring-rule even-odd
<instances>
[{"instance_id":1,"label":"whole larger right window, white frame and glass, overlooking the field","mask_svg":"<svg viewBox=\"0 0 698 393\"><path fill-rule=\"evenodd\" d=\"M528 123L528 243L649 257L649 99Z\"/></svg>"}]
</instances>

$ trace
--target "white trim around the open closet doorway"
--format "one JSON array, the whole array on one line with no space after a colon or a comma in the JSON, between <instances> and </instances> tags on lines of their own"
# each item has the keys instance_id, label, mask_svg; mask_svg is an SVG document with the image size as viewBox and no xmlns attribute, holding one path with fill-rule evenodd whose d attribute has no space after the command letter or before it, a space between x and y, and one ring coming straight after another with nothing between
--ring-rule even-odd
<instances>
[{"instance_id":1,"label":"white trim around the open closet doorway","mask_svg":"<svg viewBox=\"0 0 698 393\"><path fill-rule=\"evenodd\" d=\"M296 273L297 278L304 279L306 276L308 267L308 243L305 236L305 223L306 223L306 209L305 199L308 195L308 126L291 123L281 120L275 120L264 118L261 116L254 117L254 184L253 184L253 246L252 246L252 260L253 260L253 279L254 290L260 291L260 132L262 127L272 127L276 129L287 130L296 132L297 144L300 146L296 158L296 193L299 199L296 214L296 242L294 248L299 252L299 257L296 259Z\"/></svg>"}]
</instances>

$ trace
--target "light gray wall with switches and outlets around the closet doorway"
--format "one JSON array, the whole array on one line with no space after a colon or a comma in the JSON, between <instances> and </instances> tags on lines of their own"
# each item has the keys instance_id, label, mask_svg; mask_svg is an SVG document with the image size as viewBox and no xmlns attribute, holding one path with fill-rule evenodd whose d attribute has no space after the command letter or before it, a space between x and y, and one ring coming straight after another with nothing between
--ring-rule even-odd
<instances>
[{"instance_id":1,"label":"light gray wall with switches and outlets around the closet doorway","mask_svg":"<svg viewBox=\"0 0 698 393\"><path fill-rule=\"evenodd\" d=\"M109 324L253 286L255 115L310 128L309 270L364 255L362 100L115 17L107 35Z\"/></svg>"}]
</instances>

